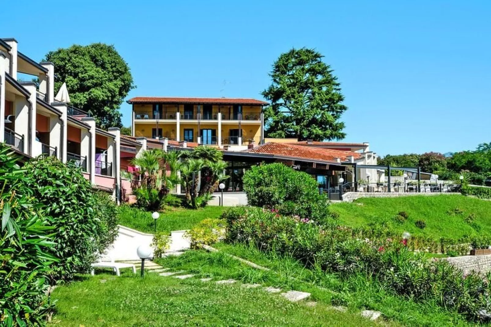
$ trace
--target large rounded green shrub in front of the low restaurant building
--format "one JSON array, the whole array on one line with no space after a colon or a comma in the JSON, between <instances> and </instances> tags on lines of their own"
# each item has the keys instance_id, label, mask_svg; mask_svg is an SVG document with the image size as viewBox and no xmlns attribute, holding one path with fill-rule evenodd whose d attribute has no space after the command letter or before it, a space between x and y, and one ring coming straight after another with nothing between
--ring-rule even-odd
<instances>
[{"instance_id":1,"label":"large rounded green shrub in front of the low restaurant building","mask_svg":"<svg viewBox=\"0 0 491 327\"><path fill-rule=\"evenodd\" d=\"M250 205L277 208L280 214L316 221L329 215L327 198L319 194L317 181L281 163L251 167L243 181Z\"/></svg>"}]
</instances>

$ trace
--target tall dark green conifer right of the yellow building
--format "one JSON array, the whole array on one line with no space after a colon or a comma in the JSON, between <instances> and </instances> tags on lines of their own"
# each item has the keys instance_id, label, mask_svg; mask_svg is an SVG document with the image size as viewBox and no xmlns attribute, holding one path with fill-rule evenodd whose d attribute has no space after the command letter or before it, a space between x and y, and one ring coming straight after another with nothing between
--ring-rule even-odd
<instances>
[{"instance_id":1,"label":"tall dark green conifer right of the yellow building","mask_svg":"<svg viewBox=\"0 0 491 327\"><path fill-rule=\"evenodd\" d=\"M301 48L281 54L274 62L272 84L262 93L271 102L265 109L266 135L315 141L346 136L339 119L348 108L323 57Z\"/></svg>"}]
</instances>

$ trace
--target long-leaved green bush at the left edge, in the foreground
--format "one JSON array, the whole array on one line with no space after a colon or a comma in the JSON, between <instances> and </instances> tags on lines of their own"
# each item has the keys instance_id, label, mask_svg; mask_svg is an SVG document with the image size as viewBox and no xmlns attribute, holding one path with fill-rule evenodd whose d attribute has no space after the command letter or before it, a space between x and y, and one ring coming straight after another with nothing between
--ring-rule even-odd
<instances>
[{"instance_id":1,"label":"long-leaved green bush at the left edge, in the foreground","mask_svg":"<svg viewBox=\"0 0 491 327\"><path fill-rule=\"evenodd\" d=\"M26 170L0 144L0 325L43 325L53 310L46 276L56 262L53 228L44 226Z\"/></svg>"}]
</instances>

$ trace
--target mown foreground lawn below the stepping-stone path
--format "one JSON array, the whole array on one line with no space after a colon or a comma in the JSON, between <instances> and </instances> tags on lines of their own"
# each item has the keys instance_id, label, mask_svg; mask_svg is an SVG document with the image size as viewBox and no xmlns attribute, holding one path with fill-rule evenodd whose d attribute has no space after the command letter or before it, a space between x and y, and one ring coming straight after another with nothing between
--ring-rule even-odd
<instances>
[{"instance_id":1,"label":"mown foreground lawn below the stepping-stone path","mask_svg":"<svg viewBox=\"0 0 491 327\"><path fill-rule=\"evenodd\" d=\"M102 283L101 280L106 282ZM372 326L355 314L239 285L98 275L55 289L53 326Z\"/></svg>"}]
</instances>

